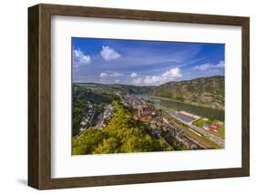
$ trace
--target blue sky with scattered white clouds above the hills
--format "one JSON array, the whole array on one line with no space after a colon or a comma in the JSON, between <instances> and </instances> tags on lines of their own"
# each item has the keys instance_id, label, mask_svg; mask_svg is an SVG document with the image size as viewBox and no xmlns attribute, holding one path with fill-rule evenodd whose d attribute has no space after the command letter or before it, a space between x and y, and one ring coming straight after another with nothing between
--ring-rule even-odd
<instances>
[{"instance_id":1,"label":"blue sky with scattered white clouds above the hills","mask_svg":"<svg viewBox=\"0 0 256 194\"><path fill-rule=\"evenodd\" d=\"M159 86L224 75L224 44L72 38L73 82Z\"/></svg>"}]
</instances>

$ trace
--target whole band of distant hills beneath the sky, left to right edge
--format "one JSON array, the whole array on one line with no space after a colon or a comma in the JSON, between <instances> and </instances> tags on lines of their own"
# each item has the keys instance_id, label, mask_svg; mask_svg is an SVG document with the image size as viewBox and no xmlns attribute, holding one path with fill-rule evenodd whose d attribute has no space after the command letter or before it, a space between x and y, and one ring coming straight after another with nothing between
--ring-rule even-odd
<instances>
[{"instance_id":1,"label":"whole band of distant hills beneath the sky, left to right edge","mask_svg":"<svg viewBox=\"0 0 256 194\"><path fill-rule=\"evenodd\" d=\"M87 88L87 96L95 94L110 99L119 94L148 94L171 101L185 102L202 107L224 109L224 77L200 77L186 81L168 82L159 87L138 87L121 84L74 83ZM114 96L113 96L114 95ZM93 97L93 95L90 95ZM88 98L90 98L88 97ZM93 97L99 99L100 97Z\"/></svg>"}]
</instances>

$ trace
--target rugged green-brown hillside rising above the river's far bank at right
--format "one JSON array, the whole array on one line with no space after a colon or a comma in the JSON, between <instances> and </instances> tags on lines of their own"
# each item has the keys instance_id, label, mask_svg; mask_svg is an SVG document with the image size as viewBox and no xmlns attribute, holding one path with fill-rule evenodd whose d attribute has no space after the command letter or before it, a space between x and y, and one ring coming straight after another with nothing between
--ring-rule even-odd
<instances>
[{"instance_id":1,"label":"rugged green-brown hillside rising above the river's far bank at right","mask_svg":"<svg viewBox=\"0 0 256 194\"><path fill-rule=\"evenodd\" d=\"M224 109L224 77L201 77L192 80L169 82L152 88L149 95L187 102L203 107Z\"/></svg>"}]
</instances>

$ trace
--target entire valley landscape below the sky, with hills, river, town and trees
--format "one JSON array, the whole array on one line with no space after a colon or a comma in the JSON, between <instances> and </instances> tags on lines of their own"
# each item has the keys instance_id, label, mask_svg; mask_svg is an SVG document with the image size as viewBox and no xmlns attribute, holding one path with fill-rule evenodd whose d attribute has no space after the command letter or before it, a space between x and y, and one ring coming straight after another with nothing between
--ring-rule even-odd
<instances>
[{"instance_id":1,"label":"entire valley landscape below the sky, with hills, river, town and trees","mask_svg":"<svg viewBox=\"0 0 256 194\"><path fill-rule=\"evenodd\" d=\"M74 83L73 154L225 148L222 78L159 87Z\"/></svg>"}]
</instances>

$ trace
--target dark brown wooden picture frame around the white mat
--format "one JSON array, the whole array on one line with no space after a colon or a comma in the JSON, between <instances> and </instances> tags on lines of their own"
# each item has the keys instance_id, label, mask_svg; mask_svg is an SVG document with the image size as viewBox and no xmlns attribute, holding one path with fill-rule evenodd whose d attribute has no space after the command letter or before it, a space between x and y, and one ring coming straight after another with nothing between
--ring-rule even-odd
<instances>
[{"instance_id":1,"label":"dark brown wooden picture frame around the white mat","mask_svg":"<svg viewBox=\"0 0 256 194\"><path fill-rule=\"evenodd\" d=\"M242 31L242 148L241 168L51 178L51 15L87 16L145 21L241 26ZM28 185L60 189L250 175L250 18L197 15L70 5L28 8Z\"/></svg>"}]
</instances>

